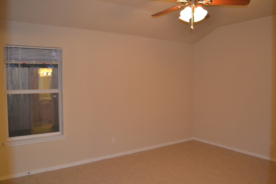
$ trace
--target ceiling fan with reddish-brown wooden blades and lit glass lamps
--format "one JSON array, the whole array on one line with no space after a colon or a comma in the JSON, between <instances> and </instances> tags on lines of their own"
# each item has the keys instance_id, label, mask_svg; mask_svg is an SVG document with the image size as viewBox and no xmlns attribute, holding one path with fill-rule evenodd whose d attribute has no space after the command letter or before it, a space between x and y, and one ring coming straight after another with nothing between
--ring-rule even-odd
<instances>
[{"instance_id":1,"label":"ceiling fan with reddish-brown wooden blades and lit glass lamps","mask_svg":"<svg viewBox=\"0 0 276 184\"><path fill-rule=\"evenodd\" d=\"M165 13L168 13L170 11L185 7L180 12L179 18L186 22L190 22L190 19L192 19L192 21L191 21L192 29L194 29L193 28L194 22L198 22L198 21L201 21L202 19L210 17L210 15L207 13L207 11L203 9L201 4L204 4L204 5L248 5L250 3L250 0L171 0L171 1L176 1L176 2L183 3L183 4L166 9L159 13L155 13L151 16L157 17L157 16L163 15Z\"/></svg>"}]
</instances>

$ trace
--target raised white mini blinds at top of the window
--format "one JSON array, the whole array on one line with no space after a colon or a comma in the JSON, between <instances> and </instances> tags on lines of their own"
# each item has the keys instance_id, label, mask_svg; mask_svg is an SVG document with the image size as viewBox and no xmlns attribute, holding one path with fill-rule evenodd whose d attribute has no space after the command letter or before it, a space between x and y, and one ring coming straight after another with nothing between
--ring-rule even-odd
<instances>
[{"instance_id":1,"label":"raised white mini blinds at top of the window","mask_svg":"<svg viewBox=\"0 0 276 184\"><path fill-rule=\"evenodd\" d=\"M4 45L6 64L61 64L61 48Z\"/></svg>"}]
</instances>

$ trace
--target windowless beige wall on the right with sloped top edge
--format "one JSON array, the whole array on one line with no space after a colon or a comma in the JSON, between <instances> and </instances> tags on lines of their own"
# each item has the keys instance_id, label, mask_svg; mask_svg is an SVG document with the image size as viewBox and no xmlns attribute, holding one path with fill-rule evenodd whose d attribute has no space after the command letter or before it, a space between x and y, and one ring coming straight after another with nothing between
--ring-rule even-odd
<instances>
[{"instance_id":1,"label":"windowless beige wall on the right with sloped top edge","mask_svg":"<svg viewBox=\"0 0 276 184\"><path fill-rule=\"evenodd\" d=\"M273 23L275 16L220 27L194 45L194 137L276 158L276 140L268 146Z\"/></svg>"}]
</instances>

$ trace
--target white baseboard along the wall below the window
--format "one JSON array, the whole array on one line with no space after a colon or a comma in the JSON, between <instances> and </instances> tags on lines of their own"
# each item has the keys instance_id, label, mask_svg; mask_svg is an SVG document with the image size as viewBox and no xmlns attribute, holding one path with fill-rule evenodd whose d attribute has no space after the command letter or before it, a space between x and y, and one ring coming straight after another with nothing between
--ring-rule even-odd
<instances>
[{"instance_id":1,"label":"white baseboard along the wall below the window","mask_svg":"<svg viewBox=\"0 0 276 184\"><path fill-rule=\"evenodd\" d=\"M37 173L46 172L46 171L54 171L54 170L57 170L57 169L63 169L63 168L66 168L66 167L77 166L77 165L86 164L86 163L95 162L95 161L100 161L100 160L113 158L113 157L117 157L117 156L128 155L128 154L137 153L137 152L140 152L140 151L151 150L151 149L159 148L159 147L162 147L162 146L168 146L168 145L177 144L177 143L186 142L186 141L191 141L191 140L193 140L193 138L168 142L168 143L159 144L159 145L156 145L156 146L150 146L150 147L145 147L145 148L141 148L141 149L137 149L137 150L131 150L131 151L125 151L125 152L116 153L116 154L112 154L112 155L101 156L101 157L98 157L98 158L92 158L92 159L88 159L88 160L77 161L77 162L73 162L73 163L69 163L69 164L64 164L64 165L59 165L59 166L54 166L54 167L48 167L48 168L38 169L38 170L34 170L34 171L27 171L27 172L22 172L22 173L18 173L18 174L8 175L8 176L1 176L0 181L8 180L8 179L11 179L11 178L17 178L17 177L21 177L21 176L28 176L28 175L31 175L31 174L37 174Z\"/></svg>"}]
</instances>

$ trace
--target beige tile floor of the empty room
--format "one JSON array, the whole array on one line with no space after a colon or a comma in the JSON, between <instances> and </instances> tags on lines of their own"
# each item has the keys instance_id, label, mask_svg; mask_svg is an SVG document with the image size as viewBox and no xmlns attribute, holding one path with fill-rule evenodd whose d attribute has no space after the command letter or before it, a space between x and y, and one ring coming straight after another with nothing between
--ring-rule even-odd
<instances>
[{"instance_id":1,"label":"beige tile floor of the empty room","mask_svg":"<svg viewBox=\"0 0 276 184\"><path fill-rule=\"evenodd\" d=\"M187 141L0 184L276 184L276 162Z\"/></svg>"}]
</instances>

